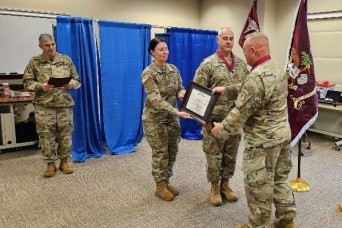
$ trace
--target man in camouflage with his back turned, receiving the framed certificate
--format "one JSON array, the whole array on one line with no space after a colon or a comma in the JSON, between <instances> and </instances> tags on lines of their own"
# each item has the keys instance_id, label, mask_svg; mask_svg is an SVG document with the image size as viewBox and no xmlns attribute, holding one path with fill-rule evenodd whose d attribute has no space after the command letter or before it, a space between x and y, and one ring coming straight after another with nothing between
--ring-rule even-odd
<instances>
[{"instance_id":1,"label":"man in camouflage with his back turned, receiving the framed certificate","mask_svg":"<svg viewBox=\"0 0 342 228\"><path fill-rule=\"evenodd\" d=\"M294 228L296 206L288 180L292 163L287 79L284 70L271 60L268 38L263 33L247 36L243 49L251 72L235 107L211 131L215 137L229 138L242 126L245 133L242 168L251 214L247 224L235 228L267 227L272 203L276 208L275 227ZM213 89L221 93L228 90Z\"/></svg>"}]
</instances>

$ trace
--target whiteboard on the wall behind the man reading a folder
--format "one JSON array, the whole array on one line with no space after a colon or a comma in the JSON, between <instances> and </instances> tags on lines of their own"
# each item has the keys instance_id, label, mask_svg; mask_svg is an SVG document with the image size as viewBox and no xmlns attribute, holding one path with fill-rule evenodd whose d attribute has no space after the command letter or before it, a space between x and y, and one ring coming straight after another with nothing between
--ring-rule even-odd
<instances>
[{"instance_id":1,"label":"whiteboard on the wall behind the man reading a folder","mask_svg":"<svg viewBox=\"0 0 342 228\"><path fill-rule=\"evenodd\" d=\"M39 55L38 37L53 34L56 19L0 15L0 73L24 73L31 57Z\"/></svg>"}]
</instances>

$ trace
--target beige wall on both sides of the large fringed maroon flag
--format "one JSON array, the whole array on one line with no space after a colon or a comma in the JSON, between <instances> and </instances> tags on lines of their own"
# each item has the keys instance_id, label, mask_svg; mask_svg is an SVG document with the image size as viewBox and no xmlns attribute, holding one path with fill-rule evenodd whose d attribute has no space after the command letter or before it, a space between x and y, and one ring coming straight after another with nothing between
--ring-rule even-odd
<instances>
[{"instance_id":1,"label":"beige wall on both sides of the large fringed maroon flag","mask_svg":"<svg viewBox=\"0 0 342 228\"><path fill-rule=\"evenodd\" d=\"M329 4L327 4L328 2ZM292 34L295 23L294 20L297 7L298 0L277 1L275 16L276 26L274 29L276 48L273 48L272 55L281 64L285 64L287 61L287 51L291 39L290 34ZM341 10L341 0L308 1L309 14ZM270 17L270 19L271 18L272 17ZM265 21L269 22L268 19L265 19ZM265 28L268 27L269 26L265 25ZM340 43L340 40L342 39L342 18L309 20L308 28L316 80L329 80L332 83L342 84L341 73L339 70L336 70L339 69L342 64L342 48L339 45L336 45Z\"/></svg>"}]
</instances>

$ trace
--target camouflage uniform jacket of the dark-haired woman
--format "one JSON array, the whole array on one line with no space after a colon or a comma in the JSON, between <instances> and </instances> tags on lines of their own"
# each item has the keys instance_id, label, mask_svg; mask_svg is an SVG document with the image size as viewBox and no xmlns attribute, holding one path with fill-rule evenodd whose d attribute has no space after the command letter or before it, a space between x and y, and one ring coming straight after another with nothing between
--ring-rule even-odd
<instances>
[{"instance_id":1,"label":"camouflage uniform jacket of the dark-haired woman","mask_svg":"<svg viewBox=\"0 0 342 228\"><path fill-rule=\"evenodd\" d=\"M175 116L177 97L185 93L177 67L168 63L160 67L153 62L141 77L147 93L142 119L158 120L170 113Z\"/></svg>"}]
</instances>

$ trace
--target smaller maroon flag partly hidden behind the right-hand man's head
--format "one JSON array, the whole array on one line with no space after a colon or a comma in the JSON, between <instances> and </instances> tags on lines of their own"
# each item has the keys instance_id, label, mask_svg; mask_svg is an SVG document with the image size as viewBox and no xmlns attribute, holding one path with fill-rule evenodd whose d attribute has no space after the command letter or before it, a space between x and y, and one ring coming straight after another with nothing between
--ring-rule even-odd
<instances>
[{"instance_id":1,"label":"smaller maroon flag partly hidden behind the right-hand man's head","mask_svg":"<svg viewBox=\"0 0 342 228\"><path fill-rule=\"evenodd\" d=\"M243 47L243 43L246 40L246 35L253 33L253 32L259 32L259 20L258 20L258 14L257 14L257 5L258 0L254 0L253 6L251 8L251 11L248 14L247 20L245 22L245 25L243 26L240 39L239 39L239 45Z\"/></svg>"}]
</instances>

